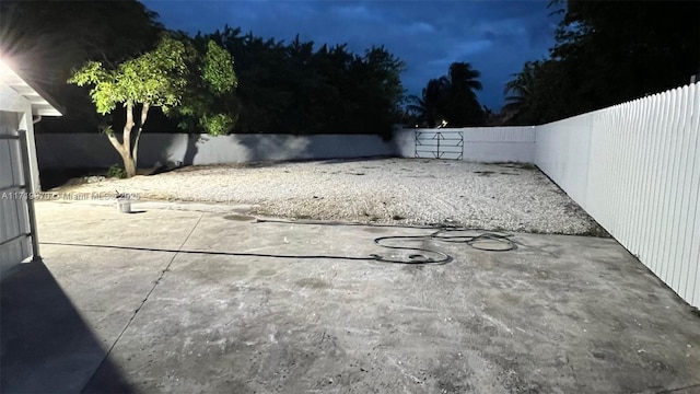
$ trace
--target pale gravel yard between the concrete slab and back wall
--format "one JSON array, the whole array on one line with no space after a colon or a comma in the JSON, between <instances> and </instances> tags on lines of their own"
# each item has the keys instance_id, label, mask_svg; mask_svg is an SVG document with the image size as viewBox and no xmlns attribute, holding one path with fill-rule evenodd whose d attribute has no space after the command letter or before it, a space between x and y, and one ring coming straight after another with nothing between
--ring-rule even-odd
<instances>
[{"instance_id":1,"label":"pale gravel yard between the concrete slab and back wall","mask_svg":"<svg viewBox=\"0 0 700 394\"><path fill-rule=\"evenodd\" d=\"M60 190L249 204L254 215L290 219L603 233L540 171L520 164L382 159L189 166Z\"/></svg>"}]
</instances>

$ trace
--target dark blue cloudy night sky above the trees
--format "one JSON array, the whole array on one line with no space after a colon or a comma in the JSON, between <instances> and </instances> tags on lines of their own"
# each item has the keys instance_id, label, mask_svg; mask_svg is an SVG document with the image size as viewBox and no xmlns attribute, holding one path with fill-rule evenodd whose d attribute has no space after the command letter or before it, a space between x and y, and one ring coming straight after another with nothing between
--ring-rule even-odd
<instances>
[{"instance_id":1,"label":"dark blue cloudy night sky above the trees","mask_svg":"<svg viewBox=\"0 0 700 394\"><path fill-rule=\"evenodd\" d=\"M348 44L355 54L386 47L406 62L408 94L420 95L431 78L453 61L481 71L479 101L503 105L503 85L526 60L541 59L553 45L558 16L549 0L532 1L142 1L171 30L210 33L225 24L256 36L291 42Z\"/></svg>"}]
</instances>

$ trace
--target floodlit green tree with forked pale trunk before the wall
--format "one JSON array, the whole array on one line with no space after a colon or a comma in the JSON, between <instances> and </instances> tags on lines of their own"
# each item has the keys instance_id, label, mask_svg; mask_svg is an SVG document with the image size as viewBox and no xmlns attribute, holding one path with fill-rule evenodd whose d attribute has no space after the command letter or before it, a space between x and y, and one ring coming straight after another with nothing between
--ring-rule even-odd
<instances>
[{"instance_id":1,"label":"floodlit green tree with forked pale trunk before the wall","mask_svg":"<svg viewBox=\"0 0 700 394\"><path fill-rule=\"evenodd\" d=\"M90 96L102 115L112 113L117 105L126 108L121 140L112 126L104 131L121 157L127 176L131 177L136 175L139 140L151 107L161 107L166 114L177 108L179 115L197 117L212 134L231 129L233 119L226 114L211 114L202 99L202 92L223 94L236 85L233 60L224 54L213 44L202 58L187 40L165 36L155 49L122 61L114 69L101 61L88 61L68 82L92 85ZM140 117L135 120L133 113L139 107Z\"/></svg>"}]
</instances>

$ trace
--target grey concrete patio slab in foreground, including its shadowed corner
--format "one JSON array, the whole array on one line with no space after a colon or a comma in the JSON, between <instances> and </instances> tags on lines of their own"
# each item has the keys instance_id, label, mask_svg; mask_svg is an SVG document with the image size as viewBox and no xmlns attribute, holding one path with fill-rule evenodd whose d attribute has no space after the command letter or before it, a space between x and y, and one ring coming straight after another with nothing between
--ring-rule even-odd
<instances>
[{"instance_id":1,"label":"grey concrete patio slab in foreground, including its shadowed corner","mask_svg":"<svg viewBox=\"0 0 700 394\"><path fill-rule=\"evenodd\" d=\"M453 260L401 265L370 256L420 252L374 239L434 230L37 210L44 263L2 282L2 392L700 392L700 317L615 240L425 237Z\"/></svg>"}]
</instances>

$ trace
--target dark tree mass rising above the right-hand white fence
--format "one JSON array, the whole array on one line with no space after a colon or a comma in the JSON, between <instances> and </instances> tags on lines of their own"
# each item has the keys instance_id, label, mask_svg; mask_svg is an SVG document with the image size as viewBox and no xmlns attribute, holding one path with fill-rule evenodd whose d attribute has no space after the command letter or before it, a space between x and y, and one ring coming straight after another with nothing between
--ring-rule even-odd
<instances>
[{"instance_id":1,"label":"dark tree mass rising above the right-hand white fence","mask_svg":"<svg viewBox=\"0 0 700 394\"><path fill-rule=\"evenodd\" d=\"M569 0L560 13L549 58L526 63L505 86L513 95L504 109L518 107L511 123L599 109L687 84L700 71L698 1Z\"/></svg>"}]
</instances>

